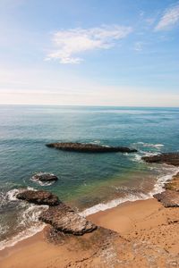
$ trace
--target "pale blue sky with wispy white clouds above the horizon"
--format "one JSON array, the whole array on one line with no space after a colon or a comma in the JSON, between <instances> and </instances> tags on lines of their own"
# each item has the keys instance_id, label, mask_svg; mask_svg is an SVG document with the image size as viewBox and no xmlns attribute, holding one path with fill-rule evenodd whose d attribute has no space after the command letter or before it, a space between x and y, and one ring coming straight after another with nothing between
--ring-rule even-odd
<instances>
[{"instance_id":1,"label":"pale blue sky with wispy white clouds above the horizon","mask_svg":"<svg viewBox=\"0 0 179 268\"><path fill-rule=\"evenodd\" d=\"M0 0L0 104L179 106L179 1Z\"/></svg>"}]
</instances>

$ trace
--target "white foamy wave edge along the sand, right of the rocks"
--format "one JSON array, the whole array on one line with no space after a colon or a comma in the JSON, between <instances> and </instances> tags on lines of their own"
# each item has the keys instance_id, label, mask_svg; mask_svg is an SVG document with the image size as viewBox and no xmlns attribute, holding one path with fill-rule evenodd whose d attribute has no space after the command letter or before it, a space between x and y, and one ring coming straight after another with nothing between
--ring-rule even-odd
<instances>
[{"instance_id":1,"label":"white foamy wave edge along the sand, right of the rocks","mask_svg":"<svg viewBox=\"0 0 179 268\"><path fill-rule=\"evenodd\" d=\"M175 168L173 166L164 165L163 168L166 168L166 170L169 169L170 174L158 176L157 182L155 183L154 188L149 193L147 193L147 194L138 193L135 195L130 194L130 195L127 195L126 197L116 198L116 199L111 200L107 203L100 203L98 205L93 205L90 208L87 208L84 211L82 211L80 213L81 216L86 217L90 214L96 214L99 211L105 211L105 210L113 208L117 205L123 204L124 202L127 202L127 201L134 202L137 200L146 200L149 198L153 198L153 196L155 194L161 193L162 191L164 191L165 190L164 185L165 185L166 181L171 180L172 177L175 176L175 174L179 172L179 168Z\"/></svg>"}]
</instances>

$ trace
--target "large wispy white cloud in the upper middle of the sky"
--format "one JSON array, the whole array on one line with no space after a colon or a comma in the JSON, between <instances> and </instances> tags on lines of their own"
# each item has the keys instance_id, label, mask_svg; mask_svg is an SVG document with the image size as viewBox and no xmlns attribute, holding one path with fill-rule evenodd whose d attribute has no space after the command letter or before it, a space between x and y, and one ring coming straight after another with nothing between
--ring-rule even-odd
<instances>
[{"instance_id":1,"label":"large wispy white cloud in the upper middle of the sky","mask_svg":"<svg viewBox=\"0 0 179 268\"><path fill-rule=\"evenodd\" d=\"M55 32L54 51L47 54L47 60L58 59L60 63L81 63L78 55L94 49L109 49L115 41L132 32L131 27L119 25L90 29L67 29Z\"/></svg>"}]
</instances>

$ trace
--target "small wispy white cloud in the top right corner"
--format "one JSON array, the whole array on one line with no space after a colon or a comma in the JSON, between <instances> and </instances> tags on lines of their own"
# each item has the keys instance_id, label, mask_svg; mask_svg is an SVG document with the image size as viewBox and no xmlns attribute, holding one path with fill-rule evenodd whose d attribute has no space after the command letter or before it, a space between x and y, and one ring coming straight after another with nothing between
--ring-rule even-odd
<instances>
[{"instance_id":1,"label":"small wispy white cloud in the top right corner","mask_svg":"<svg viewBox=\"0 0 179 268\"><path fill-rule=\"evenodd\" d=\"M171 29L179 22L179 4L170 7L166 10L166 13L162 16L155 30Z\"/></svg>"}]
</instances>

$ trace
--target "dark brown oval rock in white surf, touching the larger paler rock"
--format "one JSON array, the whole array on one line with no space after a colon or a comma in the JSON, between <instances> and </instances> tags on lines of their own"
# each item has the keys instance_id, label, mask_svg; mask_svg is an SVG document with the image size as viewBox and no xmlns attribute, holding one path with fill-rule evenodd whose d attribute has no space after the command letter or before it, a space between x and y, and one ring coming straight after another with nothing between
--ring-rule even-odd
<instances>
[{"instance_id":1,"label":"dark brown oval rock in white surf, touching the larger paler rock","mask_svg":"<svg viewBox=\"0 0 179 268\"><path fill-rule=\"evenodd\" d=\"M47 191L26 190L17 194L18 199L26 200L37 205L59 205L58 197Z\"/></svg>"}]
</instances>

